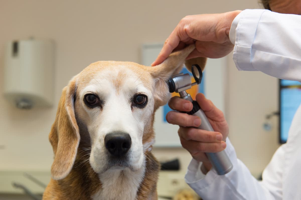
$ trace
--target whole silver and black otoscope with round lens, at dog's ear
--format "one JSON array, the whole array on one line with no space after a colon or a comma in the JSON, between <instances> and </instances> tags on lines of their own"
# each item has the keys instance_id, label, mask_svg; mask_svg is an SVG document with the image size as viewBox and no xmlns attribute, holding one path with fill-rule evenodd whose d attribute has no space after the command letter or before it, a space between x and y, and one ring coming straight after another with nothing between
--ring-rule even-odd
<instances>
[{"instance_id":1,"label":"whole silver and black otoscope with round lens, at dog's ear","mask_svg":"<svg viewBox=\"0 0 301 200\"><path fill-rule=\"evenodd\" d=\"M190 112L186 112L189 115L198 116L202 124L197 127L198 129L214 131L211 124L209 123L205 113L202 109L200 109L199 104L197 101L192 100L190 94L188 94L185 90L191 88L193 85L200 84L202 81L203 73L199 65L194 64L191 67L192 75L195 79L194 83L191 83L191 78L188 73L179 73L173 76L171 79L167 81L169 86L169 92L177 92L180 94L182 99L186 99L191 101L193 104L193 109ZM217 153L205 153L208 157L210 163L212 164L213 168L216 170L218 175L225 175L231 171L233 165L226 154L225 151L220 151Z\"/></svg>"}]
</instances>

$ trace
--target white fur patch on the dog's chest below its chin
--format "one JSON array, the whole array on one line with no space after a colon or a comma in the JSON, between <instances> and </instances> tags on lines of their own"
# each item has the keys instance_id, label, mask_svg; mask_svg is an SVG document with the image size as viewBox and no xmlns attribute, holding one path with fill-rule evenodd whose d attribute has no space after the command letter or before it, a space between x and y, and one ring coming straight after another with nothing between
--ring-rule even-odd
<instances>
[{"instance_id":1,"label":"white fur patch on the dog's chest below its chin","mask_svg":"<svg viewBox=\"0 0 301 200\"><path fill-rule=\"evenodd\" d=\"M99 175L101 189L93 196L93 200L135 200L138 188L144 178L145 169L137 172L112 170Z\"/></svg>"}]
</instances>

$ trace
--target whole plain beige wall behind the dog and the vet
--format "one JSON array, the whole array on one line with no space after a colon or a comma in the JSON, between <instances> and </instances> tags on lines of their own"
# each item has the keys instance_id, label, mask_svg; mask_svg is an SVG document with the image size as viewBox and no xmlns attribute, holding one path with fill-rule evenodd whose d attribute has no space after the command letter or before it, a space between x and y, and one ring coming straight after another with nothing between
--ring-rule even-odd
<instances>
[{"instance_id":1,"label":"whole plain beige wall behind the dog and the vet","mask_svg":"<svg viewBox=\"0 0 301 200\"><path fill-rule=\"evenodd\" d=\"M139 62L141 45L163 42L185 15L259 7L256 0L0 0L0 5L0 63L4 44L10 40L33 36L56 43L53 108L19 110L0 97L0 145L5 145L0 149L0 170L41 171L51 166L48 133L61 90L72 76L98 60ZM225 106L230 137L238 157L258 173L278 146L277 130L262 130L264 115L277 109L277 80L262 73L238 72L230 58L228 78ZM184 168L190 160L182 149L154 152L162 159L179 156Z\"/></svg>"}]
</instances>

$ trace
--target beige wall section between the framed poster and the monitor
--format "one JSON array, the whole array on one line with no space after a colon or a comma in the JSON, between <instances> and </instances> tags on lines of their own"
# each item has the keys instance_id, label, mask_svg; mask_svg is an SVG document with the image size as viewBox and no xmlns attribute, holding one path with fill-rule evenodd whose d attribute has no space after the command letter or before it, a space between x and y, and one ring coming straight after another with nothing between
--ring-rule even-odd
<instances>
[{"instance_id":1,"label":"beige wall section between the framed poster and the monitor","mask_svg":"<svg viewBox=\"0 0 301 200\"><path fill-rule=\"evenodd\" d=\"M271 119L270 132L262 128L265 115L278 110L278 79L261 72L238 71L232 62L226 106L229 137L237 157L258 174L279 147L278 117Z\"/></svg>"}]
</instances>

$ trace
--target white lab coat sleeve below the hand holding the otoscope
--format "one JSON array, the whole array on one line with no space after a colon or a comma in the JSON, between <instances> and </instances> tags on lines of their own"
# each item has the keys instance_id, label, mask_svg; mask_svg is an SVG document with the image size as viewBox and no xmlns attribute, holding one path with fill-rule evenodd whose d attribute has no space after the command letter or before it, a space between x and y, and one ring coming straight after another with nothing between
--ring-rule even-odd
<instances>
[{"instance_id":1,"label":"white lab coat sleeve below the hand holding the otoscope","mask_svg":"<svg viewBox=\"0 0 301 200\"><path fill-rule=\"evenodd\" d=\"M237 159L234 147L229 139L226 141L225 149L232 164L233 169L226 175L218 175L211 169L204 175L200 166L201 163L191 160L185 181L204 200L226 199L226 200L270 200L282 199L281 177L284 153L280 147L271 163L263 173L262 182L257 181L247 169L247 167Z\"/></svg>"}]
</instances>

